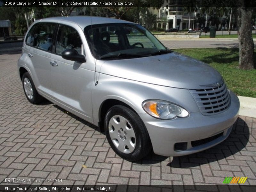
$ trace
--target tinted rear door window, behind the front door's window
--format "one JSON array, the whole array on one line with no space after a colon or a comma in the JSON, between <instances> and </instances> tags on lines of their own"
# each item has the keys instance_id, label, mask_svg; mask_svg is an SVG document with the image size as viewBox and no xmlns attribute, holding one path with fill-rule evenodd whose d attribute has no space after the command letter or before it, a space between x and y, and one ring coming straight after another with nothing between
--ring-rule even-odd
<instances>
[{"instance_id":1,"label":"tinted rear door window, behind the front door's window","mask_svg":"<svg viewBox=\"0 0 256 192\"><path fill-rule=\"evenodd\" d=\"M39 23L34 33L32 45L45 51L51 51L53 34L56 27L56 23Z\"/></svg>"}]
</instances>

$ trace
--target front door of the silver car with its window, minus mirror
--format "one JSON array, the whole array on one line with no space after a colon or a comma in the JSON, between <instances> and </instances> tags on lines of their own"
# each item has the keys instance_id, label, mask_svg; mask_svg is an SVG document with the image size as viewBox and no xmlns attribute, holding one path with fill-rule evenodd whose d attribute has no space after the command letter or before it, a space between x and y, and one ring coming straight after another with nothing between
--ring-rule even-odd
<instances>
[{"instance_id":1,"label":"front door of the silver car with its window, minus mirror","mask_svg":"<svg viewBox=\"0 0 256 192\"><path fill-rule=\"evenodd\" d=\"M88 61L81 63L66 60L61 53L74 49L84 54L84 46L77 30L60 24L51 55L51 81L55 99L92 121L91 92L94 71L88 69Z\"/></svg>"}]
</instances>

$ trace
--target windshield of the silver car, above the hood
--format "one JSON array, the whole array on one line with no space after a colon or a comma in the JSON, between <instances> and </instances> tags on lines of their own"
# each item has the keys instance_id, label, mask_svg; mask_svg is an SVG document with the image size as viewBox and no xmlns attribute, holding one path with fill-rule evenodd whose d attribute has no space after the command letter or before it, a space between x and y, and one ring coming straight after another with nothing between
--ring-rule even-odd
<instances>
[{"instance_id":1,"label":"windshield of the silver car, above the hood","mask_svg":"<svg viewBox=\"0 0 256 192\"><path fill-rule=\"evenodd\" d=\"M84 28L93 56L99 60L115 60L171 52L147 29L137 24L108 23Z\"/></svg>"}]
</instances>

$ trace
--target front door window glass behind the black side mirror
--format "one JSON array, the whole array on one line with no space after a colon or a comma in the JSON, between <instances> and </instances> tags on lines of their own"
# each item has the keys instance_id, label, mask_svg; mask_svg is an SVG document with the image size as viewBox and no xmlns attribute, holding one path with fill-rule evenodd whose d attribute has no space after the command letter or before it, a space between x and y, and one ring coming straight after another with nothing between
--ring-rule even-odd
<instances>
[{"instance_id":1,"label":"front door window glass behind the black side mirror","mask_svg":"<svg viewBox=\"0 0 256 192\"><path fill-rule=\"evenodd\" d=\"M81 54L82 41L78 32L69 26L60 25L56 41L56 53L61 54L67 49L75 49Z\"/></svg>"}]
</instances>

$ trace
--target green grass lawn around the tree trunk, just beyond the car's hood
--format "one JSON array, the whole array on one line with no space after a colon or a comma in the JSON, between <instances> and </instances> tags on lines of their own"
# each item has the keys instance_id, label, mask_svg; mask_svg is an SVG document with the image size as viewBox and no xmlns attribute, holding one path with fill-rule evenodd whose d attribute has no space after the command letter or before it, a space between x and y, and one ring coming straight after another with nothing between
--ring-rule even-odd
<instances>
[{"instance_id":1,"label":"green grass lawn around the tree trunk, just beyond the car's hood","mask_svg":"<svg viewBox=\"0 0 256 192\"><path fill-rule=\"evenodd\" d=\"M238 68L238 48L193 48L174 51L201 60L217 69L228 88L237 95L256 98L256 69L242 70ZM254 55L254 60L256 60L256 52Z\"/></svg>"}]
</instances>

